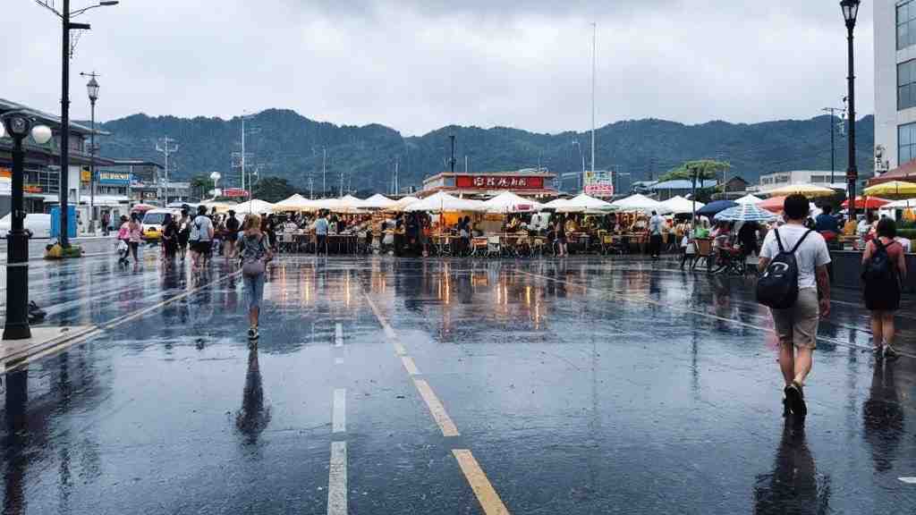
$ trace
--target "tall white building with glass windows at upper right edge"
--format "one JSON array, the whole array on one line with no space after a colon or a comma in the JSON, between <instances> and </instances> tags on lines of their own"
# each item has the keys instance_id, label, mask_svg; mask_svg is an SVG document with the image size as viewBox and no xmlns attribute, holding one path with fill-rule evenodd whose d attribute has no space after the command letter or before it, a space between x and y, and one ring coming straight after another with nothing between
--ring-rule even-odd
<instances>
[{"instance_id":1,"label":"tall white building with glass windows at upper right edge","mask_svg":"<svg viewBox=\"0 0 916 515\"><path fill-rule=\"evenodd\" d=\"M916 0L876 0L874 5L879 175L916 159Z\"/></svg>"}]
</instances>

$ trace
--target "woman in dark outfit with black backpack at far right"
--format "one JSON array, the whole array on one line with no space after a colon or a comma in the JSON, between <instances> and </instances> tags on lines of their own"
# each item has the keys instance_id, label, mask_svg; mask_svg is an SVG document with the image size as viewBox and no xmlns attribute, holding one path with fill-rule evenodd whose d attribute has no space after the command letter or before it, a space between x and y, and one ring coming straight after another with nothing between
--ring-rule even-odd
<instances>
[{"instance_id":1,"label":"woman in dark outfit with black backpack at far right","mask_svg":"<svg viewBox=\"0 0 916 515\"><path fill-rule=\"evenodd\" d=\"M878 357L897 357L891 345L894 339L894 312L900 308L900 284L907 275L906 257L892 218L878 222L876 236L867 243L862 255L862 282L865 305L871 312L871 333Z\"/></svg>"}]
</instances>

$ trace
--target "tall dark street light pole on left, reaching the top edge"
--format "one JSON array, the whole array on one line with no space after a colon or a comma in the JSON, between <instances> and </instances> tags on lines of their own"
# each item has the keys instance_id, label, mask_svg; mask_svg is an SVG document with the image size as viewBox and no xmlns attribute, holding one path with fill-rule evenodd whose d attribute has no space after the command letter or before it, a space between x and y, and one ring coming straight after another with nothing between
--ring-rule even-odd
<instances>
[{"instance_id":1,"label":"tall dark street light pole on left, reaching the top edge","mask_svg":"<svg viewBox=\"0 0 916 515\"><path fill-rule=\"evenodd\" d=\"M68 232L69 218L67 204L70 195L70 31L89 30L88 23L74 23L71 18L82 15L96 7L109 7L118 5L116 0L103 0L97 5L90 5L70 11L70 0L63 0L61 10L54 8L50 0L36 0L38 5L45 7L60 18L62 38L60 38L60 246L70 247L70 234Z\"/></svg>"}]
</instances>

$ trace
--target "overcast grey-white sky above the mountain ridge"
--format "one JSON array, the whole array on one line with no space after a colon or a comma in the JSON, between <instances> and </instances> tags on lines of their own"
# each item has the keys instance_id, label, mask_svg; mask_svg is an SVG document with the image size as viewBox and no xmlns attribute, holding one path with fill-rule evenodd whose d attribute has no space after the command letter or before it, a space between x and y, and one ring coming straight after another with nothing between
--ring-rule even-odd
<instances>
[{"instance_id":1,"label":"overcast grey-white sky above the mountain ridge","mask_svg":"<svg viewBox=\"0 0 916 515\"><path fill-rule=\"evenodd\" d=\"M863 4L860 115L874 104ZM0 97L59 113L60 22L33 0L3 0L3 18ZM71 113L84 119L79 72L95 70L102 120L279 107L405 135L449 124L583 130L593 21L599 126L808 118L845 94L834 0L122 0L78 21L93 25L71 60Z\"/></svg>"}]
</instances>

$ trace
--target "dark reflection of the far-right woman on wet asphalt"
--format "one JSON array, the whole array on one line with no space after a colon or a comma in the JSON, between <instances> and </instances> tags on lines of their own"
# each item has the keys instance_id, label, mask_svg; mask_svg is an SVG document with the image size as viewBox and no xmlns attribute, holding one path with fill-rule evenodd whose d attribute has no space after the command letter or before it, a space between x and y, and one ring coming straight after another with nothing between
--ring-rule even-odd
<instances>
[{"instance_id":1,"label":"dark reflection of the far-right woman on wet asphalt","mask_svg":"<svg viewBox=\"0 0 916 515\"><path fill-rule=\"evenodd\" d=\"M875 470L886 472L893 467L904 431L903 409L894 383L894 367L875 366L868 400L862 405L862 418L865 441L871 447Z\"/></svg>"}]
</instances>

